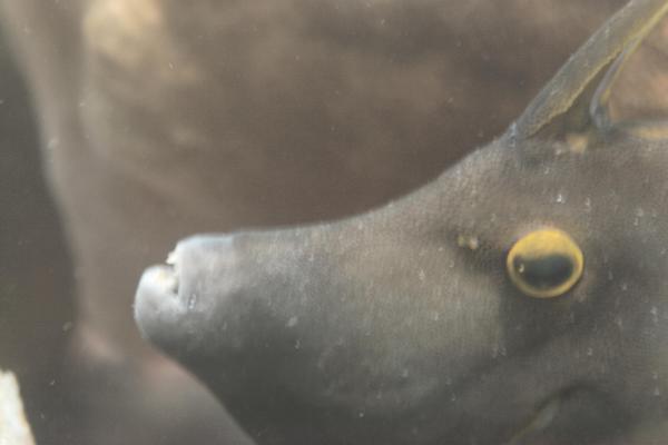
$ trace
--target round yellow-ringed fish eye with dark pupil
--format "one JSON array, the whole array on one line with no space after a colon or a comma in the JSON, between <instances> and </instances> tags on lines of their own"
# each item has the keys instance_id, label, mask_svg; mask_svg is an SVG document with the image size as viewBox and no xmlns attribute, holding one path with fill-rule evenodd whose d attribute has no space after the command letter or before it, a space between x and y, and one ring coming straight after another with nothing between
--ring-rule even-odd
<instances>
[{"instance_id":1,"label":"round yellow-ringed fish eye with dark pupil","mask_svg":"<svg viewBox=\"0 0 668 445\"><path fill-rule=\"evenodd\" d=\"M582 250L568 236L554 229L534 230L520 238L505 259L511 281L534 298L552 298L567 293L582 276Z\"/></svg>"}]
</instances>

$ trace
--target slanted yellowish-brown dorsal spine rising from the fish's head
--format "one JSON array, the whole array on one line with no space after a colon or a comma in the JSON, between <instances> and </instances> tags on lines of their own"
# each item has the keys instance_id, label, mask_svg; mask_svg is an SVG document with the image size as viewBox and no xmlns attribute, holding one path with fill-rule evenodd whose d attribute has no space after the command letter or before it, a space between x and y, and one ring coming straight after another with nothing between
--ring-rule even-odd
<instances>
[{"instance_id":1,"label":"slanted yellowish-brown dorsal spine rising from the fish's head","mask_svg":"<svg viewBox=\"0 0 668 445\"><path fill-rule=\"evenodd\" d=\"M631 0L599 29L531 101L515 139L584 132L608 125L609 90L623 62L668 11L668 0Z\"/></svg>"}]
</instances>

